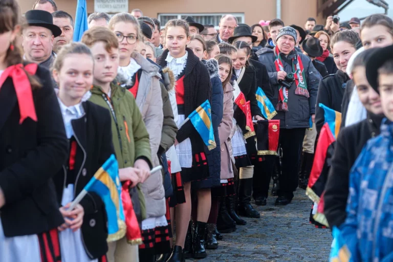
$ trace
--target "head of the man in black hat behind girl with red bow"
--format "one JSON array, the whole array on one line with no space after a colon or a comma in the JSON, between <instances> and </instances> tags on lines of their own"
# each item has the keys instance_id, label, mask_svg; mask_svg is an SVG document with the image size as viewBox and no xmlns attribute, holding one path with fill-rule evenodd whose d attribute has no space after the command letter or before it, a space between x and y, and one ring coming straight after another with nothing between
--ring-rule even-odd
<instances>
[{"instance_id":1,"label":"head of the man in black hat behind girl with red bow","mask_svg":"<svg viewBox=\"0 0 393 262\"><path fill-rule=\"evenodd\" d=\"M25 14L26 27L23 35L25 59L50 69L54 53L55 37L61 35L61 29L53 24L52 14L42 10L30 10Z\"/></svg>"}]
</instances>

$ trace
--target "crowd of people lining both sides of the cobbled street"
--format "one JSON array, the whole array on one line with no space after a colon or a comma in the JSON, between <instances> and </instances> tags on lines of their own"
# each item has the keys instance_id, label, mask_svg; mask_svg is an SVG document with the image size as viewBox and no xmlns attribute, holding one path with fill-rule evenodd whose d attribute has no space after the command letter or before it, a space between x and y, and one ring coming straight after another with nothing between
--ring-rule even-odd
<instances>
[{"instance_id":1,"label":"crowd of people lining both sides of the cobbled street","mask_svg":"<svg viewBox=\"0 0 393 262\"><path fill-rule=\"evenodd\" d=\"M252 199L267 205L271 180L276 206L309 190L325 107L342 121L322 163L324 216L354 261L392 259L388 16L250 27L228 14L217 31L134 9L90 14L76 42L54 0L23 18L16 0L0 0L0 22L0 261L205 258L242 216L260 217ZM188 119L205 101L213 146ZM69 207L112 154L132 199L124 213L139 223L107 242L96 193Z\"/></svg>"}]
</instances>

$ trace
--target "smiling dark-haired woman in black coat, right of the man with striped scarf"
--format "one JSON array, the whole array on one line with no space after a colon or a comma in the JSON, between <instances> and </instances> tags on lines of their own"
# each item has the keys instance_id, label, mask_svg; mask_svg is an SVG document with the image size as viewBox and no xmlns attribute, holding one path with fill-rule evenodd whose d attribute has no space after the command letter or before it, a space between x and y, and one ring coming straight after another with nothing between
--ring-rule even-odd
<instances>
[{"instance_id":1,"label":"smiling dark-haired woman in black coat, right of the man with striped scarf","mask_svg":"<svg viewBox=\"0 0 393 262\"><path fill-rule=\"evenodd\" d=\"M334 75L324 77L319 82L317 107L315 111L315 126L317 127L318 133L325 120L324 110L319 107L319 103L341 113L341 104L346 82L350 80L345 70L348 60L356 51L356 43L359 40L358 34L350 30L338 32L332 37L331 47L338 71Z\"/></svg>"}]
</instances>

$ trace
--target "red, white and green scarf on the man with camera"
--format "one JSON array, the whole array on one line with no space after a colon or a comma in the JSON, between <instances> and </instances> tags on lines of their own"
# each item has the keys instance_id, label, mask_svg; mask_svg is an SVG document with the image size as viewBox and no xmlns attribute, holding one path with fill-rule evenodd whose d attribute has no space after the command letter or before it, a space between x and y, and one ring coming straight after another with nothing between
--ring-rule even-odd
<instances>
[{"instance_id":1,"label":"red, white and green scarf on the man with camera","mask_svg":"<svg viewBox=\"0 0 393 262\"><path fill-rule=\"evenodd\" d=\"M280 51L278 50L277 46L274 48L274 57L275 57L274 64L276 65L277 72L285 71L284 66L282 65ZM294 59L295 58L292 58L292 68L293 68L293 72L294 72L293 74L295 76L295 83L296 83L295 94L309 98L310 94L309 91L307 90L307 83L305 82L303 63L299 55L297 55L296 58L298 61L296 65L294 63ZM288 111L288 89L282 85L278 90L278 103L276 106L276 110Z\"/></svg>"}]
</instances>

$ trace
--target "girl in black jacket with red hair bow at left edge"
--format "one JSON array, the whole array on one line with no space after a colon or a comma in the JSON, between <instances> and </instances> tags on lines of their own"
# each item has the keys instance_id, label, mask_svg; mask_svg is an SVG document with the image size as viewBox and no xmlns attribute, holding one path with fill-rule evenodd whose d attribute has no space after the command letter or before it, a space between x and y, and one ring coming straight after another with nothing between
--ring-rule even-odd
<instances>
[{"instance_id":1,"label":"girl in black jacket with red hair bow at left edge","mask_svg":"<svg viewBox=\"0 0 393 262\"><path fill-rule=\"evenodd\" d=\"M49 72L15 46L20 18L15 0L0 1L0 261L59 261L52 177L67 137Z\"/></svg>"}]
</instances>

